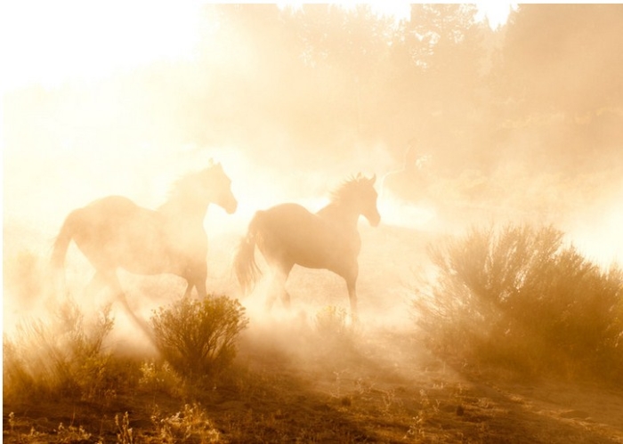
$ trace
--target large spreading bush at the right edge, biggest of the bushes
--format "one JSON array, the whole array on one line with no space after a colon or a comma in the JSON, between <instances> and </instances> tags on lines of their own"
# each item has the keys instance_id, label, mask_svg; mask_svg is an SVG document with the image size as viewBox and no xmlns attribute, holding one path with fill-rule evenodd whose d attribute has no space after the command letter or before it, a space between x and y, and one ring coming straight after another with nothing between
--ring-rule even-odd
<instances>
[{"instance_id":1,"label":"large spreading bush at the right edge, biggest of the bushes","mask_svg":"<svg viewBox=\"0 0 623 444\"><path fill-rule=\"evenodd\" d=\"M429 256L437 279L414 305L437 351L529 374L618 377L623 273L563 246L561 231L473 229Z\"/></svg>"}]
</instances>

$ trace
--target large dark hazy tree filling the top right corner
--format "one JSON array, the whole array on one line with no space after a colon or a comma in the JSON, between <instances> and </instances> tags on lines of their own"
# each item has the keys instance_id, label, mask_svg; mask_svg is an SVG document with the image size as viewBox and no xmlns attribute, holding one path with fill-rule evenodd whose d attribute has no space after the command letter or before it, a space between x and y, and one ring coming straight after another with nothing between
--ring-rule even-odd
<instances>
[{"instance_id":1,"label":"large dark hazy tree filling the top right corner","mask_svg":"<svg viewBox=\"0 0 623 444\"><path fill-rule=\"evenodd\" d=\"M621 4L522 4L511 14L491 78L501 133L530 141L514 156L571 174L620 165L622 20Z\"/></svg>"}]
</instances>

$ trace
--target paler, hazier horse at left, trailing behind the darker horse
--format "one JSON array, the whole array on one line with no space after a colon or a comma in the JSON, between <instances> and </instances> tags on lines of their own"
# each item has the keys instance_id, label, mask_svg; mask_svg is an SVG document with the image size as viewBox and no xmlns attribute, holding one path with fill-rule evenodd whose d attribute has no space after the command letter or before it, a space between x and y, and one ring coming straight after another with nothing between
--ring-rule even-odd
<instances>
[{"instance_id":1,"label":"paler, hazier horse at left, trailing behind the darker horse","mask_svg":"<svg viewBox=\"0 0 623 444\"><path fill-rule=\"evenodd\" d=\"M87 290L96 293L110 287L135 318L117 278L117 269L134 274L171 273L186 279L185 296L197 289L205 297L207 236L203 222L214 203L228 214L238 202L231 180L221 164L208 167L174 183L166 202L156 210L136 205L129 198L109 196L69 213L54 241L53 270L64 268L69 243L95 269Z\"/></svg>"}]
</instances>

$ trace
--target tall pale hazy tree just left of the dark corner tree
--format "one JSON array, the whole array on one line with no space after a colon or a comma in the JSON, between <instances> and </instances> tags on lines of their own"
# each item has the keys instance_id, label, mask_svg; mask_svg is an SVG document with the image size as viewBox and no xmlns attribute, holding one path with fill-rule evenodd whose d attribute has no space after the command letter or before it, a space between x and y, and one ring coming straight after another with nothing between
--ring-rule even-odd
<instances>
[{"instance_id":1,"label":"tall pale hazy tree just left of the dark corner tree","mask_svg":"<svg viewBox=\"0 0 623 444\"><path fill-rule=\"evenodd\" d=\"M394 45L392 98L438 165L464 166L480 129L481 88L487 52L484 28L467 4L413 4Z\"/></svg>"}]
</instances>

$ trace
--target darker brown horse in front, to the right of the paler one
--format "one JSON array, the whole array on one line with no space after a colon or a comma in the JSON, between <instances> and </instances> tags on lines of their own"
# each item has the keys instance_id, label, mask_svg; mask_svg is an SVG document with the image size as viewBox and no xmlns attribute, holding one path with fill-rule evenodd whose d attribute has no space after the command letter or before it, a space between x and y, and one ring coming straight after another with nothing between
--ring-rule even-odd
<instances>
[{"instance_id":1,"label":"darker brown horse in front, to the right of the paler one","mask_svg":"<svg viewBox=\"0 0 623 444\"><path fill-rule=\"evenodd\" d=\"M286 308L290 295L287 277L295 264L311 269L326 269L344 278L351 304L357 315L356 283L361 239L357 230L359 216L376 227L381 216L376 208L376 175L361 174L345 181L332 194L330 202L313 214L303 206L286 203L255 213L247 235L241 239L233 260L233 269L247 295L255 286L261 270L255 262L255 246L273 271L271 293L266 308L279 295Z\"/></svg>"}]
</instances>

